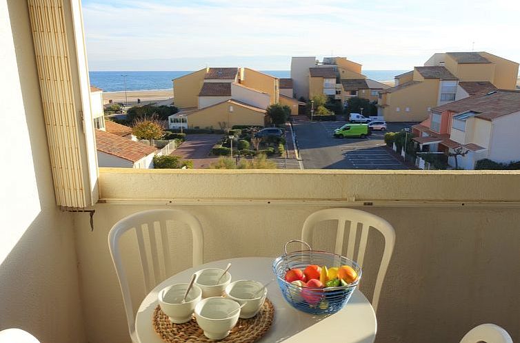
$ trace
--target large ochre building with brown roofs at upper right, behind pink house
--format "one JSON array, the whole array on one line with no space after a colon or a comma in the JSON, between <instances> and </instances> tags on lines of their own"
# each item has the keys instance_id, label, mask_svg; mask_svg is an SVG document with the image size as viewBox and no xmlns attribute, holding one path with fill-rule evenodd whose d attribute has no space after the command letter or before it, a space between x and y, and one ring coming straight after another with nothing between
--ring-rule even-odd
<instances>
[{"instance_id":1,"label":"large ochre building with brown roofs at upper right, behind pink house","mask_svg":"<svg viewBox=\"0 0 520 343\"><path fill-rule=\"evenodd\" d=\"M395 76L381 91L379 116L386 121L423 121L432 107L479 92L481 88L514 90L519 64L488 52L437 53L422 67Z\"/></svg>"}]
</instances>

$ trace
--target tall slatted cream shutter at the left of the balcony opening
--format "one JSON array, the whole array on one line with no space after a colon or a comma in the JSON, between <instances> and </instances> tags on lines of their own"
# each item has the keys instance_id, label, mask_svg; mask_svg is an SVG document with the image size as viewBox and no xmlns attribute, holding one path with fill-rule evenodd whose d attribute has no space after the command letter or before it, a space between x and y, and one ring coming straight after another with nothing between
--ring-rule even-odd
<instances>
[{"instance_id":1,"label":"tall slatted cream shutter at the left of the balcony opening","mask_svg":"<svg viewBox=\"0 0 520 343\"><path fill-rule=\"evenodd\" d=\"M74 17L81 6L28 4L57 205L87 207L98 199L97 159L81 12Z\"/></svg>"}]
</instances>

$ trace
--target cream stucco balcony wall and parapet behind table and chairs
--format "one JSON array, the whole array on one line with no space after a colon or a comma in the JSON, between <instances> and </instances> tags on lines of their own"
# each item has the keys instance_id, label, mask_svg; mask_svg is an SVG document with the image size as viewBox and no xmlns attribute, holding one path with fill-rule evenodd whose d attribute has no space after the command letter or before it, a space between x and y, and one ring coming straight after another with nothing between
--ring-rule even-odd
<instances>
[{"instance_id":1,"label":"cream stucco balcony wall and parapet behind table and chairs","mask_svg":"<svg viewBox=\"0 0 520 343\"><path fill-rule=\"evenodd\" d=\"M356 207L385 218L397 234L377 312L377 342L459 342L483 322L498 323L520 340L519 171L102 168L92 230L88 214L63 211L54 200L28 3L0 2L0 16L7 33L0 35L6 71L0 87L12 114L4 138L30 142L3 151L18 165L3 170L0 180L0 329L21 328L41 343L130 342L107 237L115 222L137 211L189 211L203 227L209 262L280 256L313 211ZM179 227L174 233L176 271L192 263L186 232ZM333 249L335 228L321 232L314 247ZM379 236L369 237L360 284L369 299L381 246ZM134 237L123 237L137 308L145 293L135 248Z\"/></svg>"}]
</instances>

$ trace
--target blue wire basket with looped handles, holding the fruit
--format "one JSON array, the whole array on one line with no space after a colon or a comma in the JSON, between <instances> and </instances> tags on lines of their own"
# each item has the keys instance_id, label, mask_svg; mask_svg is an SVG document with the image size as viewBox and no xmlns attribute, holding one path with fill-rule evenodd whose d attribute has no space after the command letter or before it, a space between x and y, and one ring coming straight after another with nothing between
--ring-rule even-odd
<instances>
[{"instance_id":1,"label":"blue wire basket with looped handles, holding the fruit","mask_svg":"<svg viewBox=\"0 0 520 343\"><path fill-rule=\"evenodd\" d=\"M292 242L301 242L306 245L309 250L292 251L288 253L287 246ZM361 279L361 268L359 265L346 257L329 253L327 251L312 250L308 243L303 240L290 240L283 247L284 254L274 260L272 269L277 277L283 298L291 304L295 309L315 315L326 315L336 313L345 306L359 284ZM357 273L357 279L339 287L311 288L298 286L287 282L285 279L286 272L290 269L305 269L310 264L319 266L340 267L350 266Z\"/></svg>"}]
</instances>

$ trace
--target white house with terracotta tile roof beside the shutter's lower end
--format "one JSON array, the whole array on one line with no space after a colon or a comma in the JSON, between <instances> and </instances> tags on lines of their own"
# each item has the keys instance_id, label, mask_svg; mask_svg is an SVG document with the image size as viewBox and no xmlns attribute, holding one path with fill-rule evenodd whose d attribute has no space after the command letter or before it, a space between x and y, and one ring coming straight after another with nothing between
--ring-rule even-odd
<instances>
[{"instance_id":1,"label":"white house with terracotta tile roof beside the shutter's lower end","mask_svg":"<svg viewBox=\"0 0 520 343\"><path fill-rule=\"evenodd\" d=\"M99 167L152 169L157 153L155 147L101 129L96 129L96 148Z\"/></svg>"}]
</instances>

